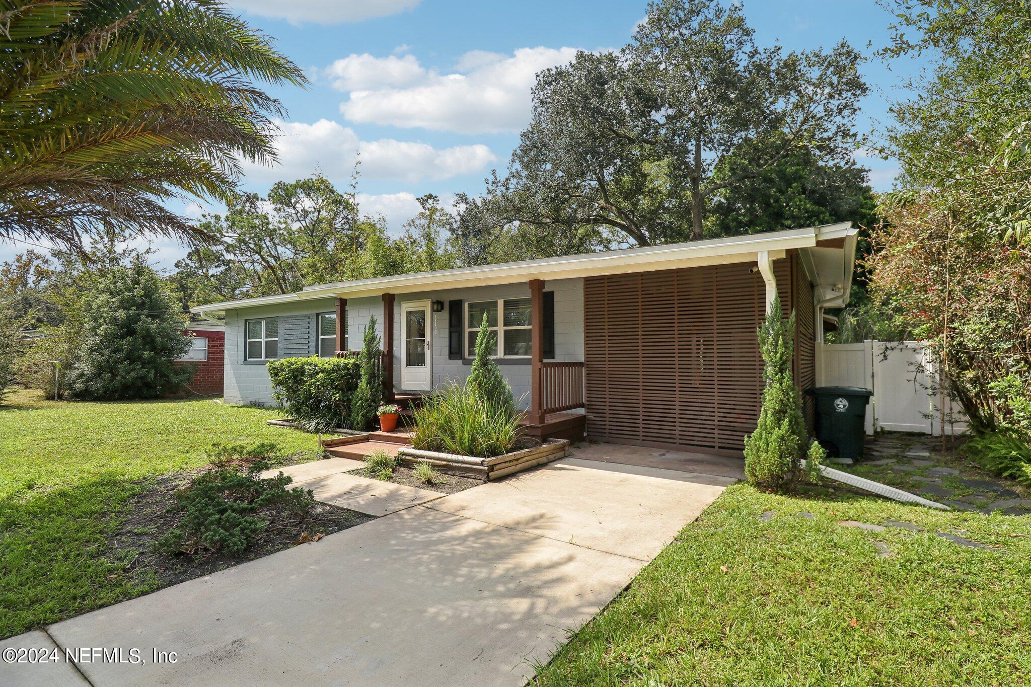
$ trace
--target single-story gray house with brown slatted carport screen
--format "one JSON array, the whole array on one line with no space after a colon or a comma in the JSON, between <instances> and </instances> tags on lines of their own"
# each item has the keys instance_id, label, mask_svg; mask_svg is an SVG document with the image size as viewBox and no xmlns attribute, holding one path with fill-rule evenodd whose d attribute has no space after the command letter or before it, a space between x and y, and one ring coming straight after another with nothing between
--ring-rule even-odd
<instances>
[{"instance_id":1,"label":"single-story gray house with brown slatted carport screen","mask_svg":"<svg viewBox=\"0 0 1031 687\"><path fill-rule=\"evenodd\" d=\"M757 325L776 295L796 311L796 380L813 386L823 311L847 302L857 233L842 222L403 274L194 312L225 318L228 403L271 404L268 360L345 355L373 315L387 394L430 392L468 375L486 314L534 436L739 454L762 392Z\"/></svg>"}]
</instances>

